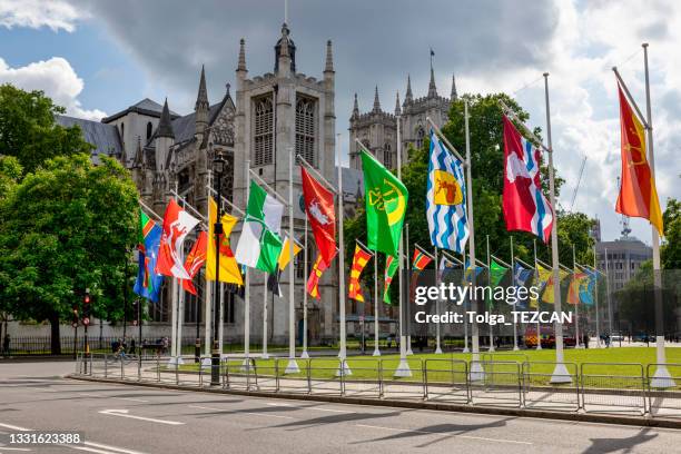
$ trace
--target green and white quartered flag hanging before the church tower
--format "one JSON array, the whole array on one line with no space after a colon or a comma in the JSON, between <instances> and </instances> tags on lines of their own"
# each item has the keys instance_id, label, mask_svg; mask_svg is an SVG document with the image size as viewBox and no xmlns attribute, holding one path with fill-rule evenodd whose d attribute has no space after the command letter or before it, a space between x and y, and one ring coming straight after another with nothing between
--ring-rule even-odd
<instances>
[{"instance_id":1,"label":"green and white quartered flag hanging before the church tower","mask_svg":"<svg viewBox=\"0 0 681 454\"><path fill-rule=\"evenodd\" d=\"M250 268L275 273L282 253L282 215L284 205L250 181L248 207L236 250L236 260Z\"/></svg>"}]
</instances>

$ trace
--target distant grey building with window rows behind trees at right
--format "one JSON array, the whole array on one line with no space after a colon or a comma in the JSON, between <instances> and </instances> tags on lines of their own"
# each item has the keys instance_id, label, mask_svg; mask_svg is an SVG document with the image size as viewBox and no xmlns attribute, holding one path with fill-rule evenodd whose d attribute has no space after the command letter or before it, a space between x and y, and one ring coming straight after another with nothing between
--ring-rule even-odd
<instances>
[{"instance_id":1,"label":"distant grey building with window rows behind trees at right","mask_svg":"<svg viewBox=\"0 0 681 454\"><path fill-rule=\"evenodd\" d=\"M641 264L651 258L652 248L635 237L626 236L614 241L596 243L598 267L603 273L608 268L611 292L624 287L639 272Z\"/></svg>"}]
</instances>

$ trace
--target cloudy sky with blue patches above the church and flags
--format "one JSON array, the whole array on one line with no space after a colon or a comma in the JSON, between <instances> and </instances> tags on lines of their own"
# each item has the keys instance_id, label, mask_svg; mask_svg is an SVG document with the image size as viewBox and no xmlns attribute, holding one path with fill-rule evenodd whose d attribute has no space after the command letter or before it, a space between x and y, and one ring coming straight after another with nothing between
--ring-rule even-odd
<instances>
[{"instance_id":1,"label":"cloudy sky with blue patches above the church and flags","mask_svg":"<svg viewBox=\"0 0 681 454\"><path fill-rule=\"evenodd\" d=\"M681 198L681 6L673 0L525 2L435 0L320 2L292 0L298 70L320 77L326 39L334 41L337 130L347 130L354 92L371 108L378 85L393 110L411 73L424 96L428 49L438 92L515 93L531 126L545 127L542 72L550 71L555 162L569 207L588 157L574 208L599 216L604 236L619 236L613 206L619 175L615 82L622 76L644 109L641 42L651 43L658 189ZM186 114L206 63L213 102L234 83L238 39L250 76L272 71L284 0L0 0L0 82L40 88L70 115L98 118L149 97ZM347 137L343 138L347 144ZM650 228L632 219L650 243Z\"/></svg>"}]
</instances>

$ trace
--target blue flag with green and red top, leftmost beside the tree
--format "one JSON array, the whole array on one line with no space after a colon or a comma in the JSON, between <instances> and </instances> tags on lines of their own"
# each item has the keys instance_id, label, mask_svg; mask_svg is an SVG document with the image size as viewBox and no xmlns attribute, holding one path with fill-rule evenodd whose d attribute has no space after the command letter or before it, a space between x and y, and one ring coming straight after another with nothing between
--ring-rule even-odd
<instances>
[{"instance_id":1,"label":"blue flag with green and red top, leftmost beside the tree","mask_svg":"<svg viewBox=\"0 0 681 454\"><path fill-rule=\"evenodd\" d=\"M156 273L156 260L160 246L161 228L156 225L149 216L140 209L139 214L139 245L137 280L135 280L134 292L154 303L158 303L164 276Z\"/></svg>"}]
</instances>

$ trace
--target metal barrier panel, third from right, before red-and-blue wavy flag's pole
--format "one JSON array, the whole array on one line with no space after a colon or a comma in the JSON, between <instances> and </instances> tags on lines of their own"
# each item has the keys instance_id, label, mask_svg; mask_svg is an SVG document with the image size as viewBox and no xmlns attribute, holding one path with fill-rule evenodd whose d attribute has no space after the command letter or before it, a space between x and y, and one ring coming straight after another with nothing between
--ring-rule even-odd
<instances>
[{"instance_id":1,"label":"metal barrier panel, third from right, before red-and-blue wavy flag's pole","mask_svg":"<svg viewBox=\"0 0 681 454\"><path fill-rule=\"evenodd\" d=\"M561 379L553 379L557 364L568 371ZM550 408L576 412L580 409L580 381L575 363L524 362L523 402L527 408ZM565 378L568 383L561 383Z\"/></svg>"}]
</instances>

